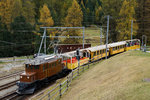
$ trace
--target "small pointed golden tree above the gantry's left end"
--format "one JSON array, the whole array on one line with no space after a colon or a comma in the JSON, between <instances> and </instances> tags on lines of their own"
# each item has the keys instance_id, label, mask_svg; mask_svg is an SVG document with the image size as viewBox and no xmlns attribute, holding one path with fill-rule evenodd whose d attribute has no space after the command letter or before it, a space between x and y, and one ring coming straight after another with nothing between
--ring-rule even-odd
<instances>
[{"instance_id":1,"label":"small pointed golden tree above the gantry's left end","mask_svg":"<svg viewBox=\"0 0 150 100\"><path fill-rule=\"evenodd\" d=\"M51 13L49 8L47 7L46 4L43 5L43 8L40 9L40 19L39 22L42 23L41 26L53 26L54 25L54 21L52 19Z\"/></svg>"}]
</instances>

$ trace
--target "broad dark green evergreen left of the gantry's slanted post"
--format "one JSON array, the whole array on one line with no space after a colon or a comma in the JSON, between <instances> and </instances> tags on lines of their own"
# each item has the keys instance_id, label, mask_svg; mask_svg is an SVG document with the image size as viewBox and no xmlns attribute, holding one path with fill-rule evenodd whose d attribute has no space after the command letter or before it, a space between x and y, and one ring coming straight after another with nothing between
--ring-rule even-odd
<instances>
[{"instance_id":1,"label":"broad dark green evergreen left of the gantry's slanted post","mask_svg":"<svg viewBox=\"0 0 150 100\"><path fill-rule=\"evenodd\" d=\"M14 55L23 56L33 54L33 27L28 23L24 16L18 16L11 23L11 31L13 32Z\"/></svg>"}]
</instances>

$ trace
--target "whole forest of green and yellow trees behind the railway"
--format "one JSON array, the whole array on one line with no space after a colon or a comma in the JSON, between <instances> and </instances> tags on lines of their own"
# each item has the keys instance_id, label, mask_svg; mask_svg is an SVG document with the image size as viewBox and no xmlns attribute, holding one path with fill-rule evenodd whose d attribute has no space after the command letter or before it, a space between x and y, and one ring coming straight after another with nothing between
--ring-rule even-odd
<instances>
[{"instance_id":1,"label":"whole forest of green and yellow trees behind the railway","mask_svg":"<svg viewBox=\"0 0 150 100\"><path fill-rule=\"evenodd\" d=\"M0 57L37 53L42 26L88 27L106 26L110 15L110 42L148 37L150 44L149 0L1 0L0 1ZM49 35L58 35L48 30ZM50 34L51 33L51 34ZM80 35L70 30L64 35ZM75 41L75 42L74 42ZM64 40L63 43L80 43Z\"/></svg>"}]
</instances>

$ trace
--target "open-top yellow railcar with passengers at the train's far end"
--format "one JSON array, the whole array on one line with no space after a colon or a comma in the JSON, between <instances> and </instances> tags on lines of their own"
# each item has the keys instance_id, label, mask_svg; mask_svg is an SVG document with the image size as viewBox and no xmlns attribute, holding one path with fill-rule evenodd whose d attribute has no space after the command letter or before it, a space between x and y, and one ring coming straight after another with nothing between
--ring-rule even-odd
<instances>
[{"instance_id":1,"label":"open-top yellow railcar with passengers at the train's far end","mask_svg":"<svg viewBox=\"0 0 150 100\"><path fill-rule=\"evenodd\" d=\"M140 40L139 39L127 40L125 50L128 51L134 49L140 49Z\"/></svg>"}]
</instances>

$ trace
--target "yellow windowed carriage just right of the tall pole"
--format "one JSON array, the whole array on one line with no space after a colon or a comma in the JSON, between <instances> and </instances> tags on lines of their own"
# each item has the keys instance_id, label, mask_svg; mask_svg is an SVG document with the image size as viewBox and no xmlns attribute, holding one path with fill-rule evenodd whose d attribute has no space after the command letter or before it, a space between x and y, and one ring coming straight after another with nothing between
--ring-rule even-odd
<instances>
[{"instance_id":1,"label":"yellow windowed carriage just right of the tall pole","mask_svg":"<svg viewBox=\"0 0 150 100\"><path fill-rule=\"evenodd\" d=\"M126 41L109 44L110 55L121 53L125 51Z\"/></svg>"}]
</instances>

